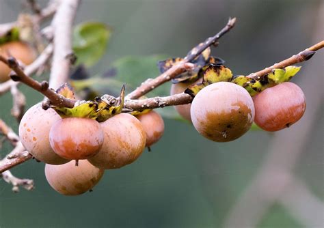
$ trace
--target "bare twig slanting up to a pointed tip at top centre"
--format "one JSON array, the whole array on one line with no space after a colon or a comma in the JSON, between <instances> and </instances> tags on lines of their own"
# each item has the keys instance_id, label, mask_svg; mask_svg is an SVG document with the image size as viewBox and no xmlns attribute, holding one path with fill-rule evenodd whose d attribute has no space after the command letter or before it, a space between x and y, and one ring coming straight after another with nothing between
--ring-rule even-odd
<instances>
[{"instance_id":1,"label":"bare twig slanting up to a pointed tip at top centre","mask_svg":"<svg viewBox=\"0 0 324 228\"><path fill-rule=\"evenodd\" d=\"M215 36L208 38L203 45L196 48L196 50L187 57L183 61L180 61L178 64L174 65L172 68L161 74L160 76L157 76L157 78L146 81L142 83L139 87L137 87L131 94L127 95L127 99L137 99L141 96L147 94L149 91L152 91L152 89L155 89L159 85L162 85L163 83L170 81L171 79L174 79L179 74L185 72L186 70L191 70L194 66L192 64L188 64L190 61L193 61L198 55L200 55L208 46L211 46L221 38L222 35L230 31L232 27L234 27L236 22L236 18L230 18L228 20L227 25L219 31Z\"/></svg>"}]
</instances>

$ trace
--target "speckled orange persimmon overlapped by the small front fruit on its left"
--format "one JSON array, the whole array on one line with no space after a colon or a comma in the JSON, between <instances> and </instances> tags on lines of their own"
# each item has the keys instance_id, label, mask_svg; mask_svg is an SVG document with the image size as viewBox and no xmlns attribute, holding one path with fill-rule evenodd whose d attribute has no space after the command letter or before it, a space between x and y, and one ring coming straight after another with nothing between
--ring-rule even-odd
<instances>
[{"instance_id":1,"label":"speckled orange persimmon overlapped by the small front fruit on its left","mask_svg":"<svg viewBox=\"0 0 324 228\"><path fill-rule=\"evenodd\" d=\"M105 133L103 147L88 160L103 169L118 169L134 162L143 152L146 133L133 115L120 113L101 123Z\"/></svg>"}]
</instances>

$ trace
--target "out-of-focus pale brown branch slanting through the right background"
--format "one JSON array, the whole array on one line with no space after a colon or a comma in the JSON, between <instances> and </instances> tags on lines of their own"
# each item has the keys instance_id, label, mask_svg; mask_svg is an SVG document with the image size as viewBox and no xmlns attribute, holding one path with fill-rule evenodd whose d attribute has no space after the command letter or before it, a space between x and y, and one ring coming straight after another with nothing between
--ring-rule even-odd
<instances>
[{"instance_id":1,"label":"out-of-focus pale brown branch slanting through the right background","mask_svg":"<svg viewBox=\"0 0 324 228\"><path fill-rule=\"evenodd\" d=\"M321 18L323 18L323 15L321 14ZM314 31L321 31L321 26L321 23L319 23ZM321 36L321 33L317 32L314 40L321 38ZM321 48L322 45L320 42L319 45L315 46L316 48ZM323 74L323 55L324 53L319 53L316 59L303 68L304 73L309 75L319 74L321 76ZM290 192L291 188L296 185L295 178L292 178L295 175L293 171L299 162L301 154L307 152L308 135L313 134L313 128L317 127L316 115L323 112L321 105L323 104L323 88L321 83L319 83L319 78L316 76L301 77L300 84L303 85L306 98L311 98L307 100L307 110L305 115L303 115L303 119L293 126L294 130L289 129L275 132L275 137L270 143L271 148L265 157L265 162L256 171L256 177L243 191L243 194L228 214L224 227L256 227L273 203L281 202L282 197L285 195L296 194ZM300 193L303 189L297 191ZM312 197L312 199L315 198ZM282 203L288 206L288 201L289 199ZM288 207L291 207L292 202L289 203ZM295 201L294 206L297 204L298 202ZM249 205L248 210L247 205ZM322 203L319 201L315 205L318 208L317 205L322 205ZM303 207L307 206L303 205ZM314 209L312 208L312 210ZM292 213L296 214L296 210L297 208ZM323 214L313 213L312 210L308 210L307 215L305 214L307 218L304 218L303 223L307 224L306 227L319 226L321 223L316 225L314 223L319 220L323 221ZM303 210L303 212L306 212L306 210ZM323 208L321 212L323 212ZM308 219L316 215L321 217L315 220Z\"/></svg>"}]
</instances>

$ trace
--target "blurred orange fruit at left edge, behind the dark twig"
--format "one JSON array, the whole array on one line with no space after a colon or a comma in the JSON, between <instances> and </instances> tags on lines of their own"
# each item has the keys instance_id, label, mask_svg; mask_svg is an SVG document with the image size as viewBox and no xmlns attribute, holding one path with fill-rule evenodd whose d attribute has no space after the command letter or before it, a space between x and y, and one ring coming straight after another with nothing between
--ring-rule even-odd
<instances>
[{"instance_id":1,"label":"blurred orange fruit at left edge, behind the dark twig","mask_svg":"<svg viewBox=\"0 0 324 228\"><path fill-rule=\"evenodd\" d=\"M10 56L15 57L18 61L21 61L25 65L29 65L36 59L36 53L29 46L29 44L25 42L8 42L5 44L0 45L0 55L3 55L4 57ZM0 83L3 83L4 81L8 81L10 79L10 68L5 65L5 63L0 61Z\"/></svg>"}]
</instances>

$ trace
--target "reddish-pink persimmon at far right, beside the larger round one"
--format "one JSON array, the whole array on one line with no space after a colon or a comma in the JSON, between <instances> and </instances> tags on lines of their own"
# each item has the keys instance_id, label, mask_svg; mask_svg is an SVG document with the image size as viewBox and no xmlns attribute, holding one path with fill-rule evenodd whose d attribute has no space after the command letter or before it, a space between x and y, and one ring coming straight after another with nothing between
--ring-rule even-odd
<instances>
[{"instance_id":1,"label":"reddish-pink persimmon at far right, beside the larger round one","mask_svg":"<svg viewBox=\"0 0 324 228\"><path fill-rule=\"evenodd\" d=\"M282 130L297 122L305 113L306 98L298 85L281 83L265 89L253 98L254 122L263 130Z\"/></svg>"}]
</instances>

